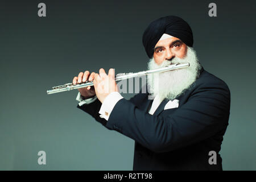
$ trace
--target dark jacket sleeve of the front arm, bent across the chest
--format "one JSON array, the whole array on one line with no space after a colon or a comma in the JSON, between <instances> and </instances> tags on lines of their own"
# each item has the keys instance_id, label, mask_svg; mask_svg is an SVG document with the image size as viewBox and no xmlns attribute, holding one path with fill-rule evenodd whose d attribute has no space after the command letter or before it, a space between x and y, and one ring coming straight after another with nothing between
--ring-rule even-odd
<instances>
[{"instance_id":1,"label":"dark jacket sleeve of the front arm, bent across the chest","mask_svg":"<svg viewBox=\"0 0 256 182\"><path fill-rule=\"evenodd\" d=\"M150 115L133 102L119 100L108 129L155 152L168 152L212 137L228 125L230 92L224 82L197 86L189 100L170 115Z\"/></svg>"}]
</instances>

